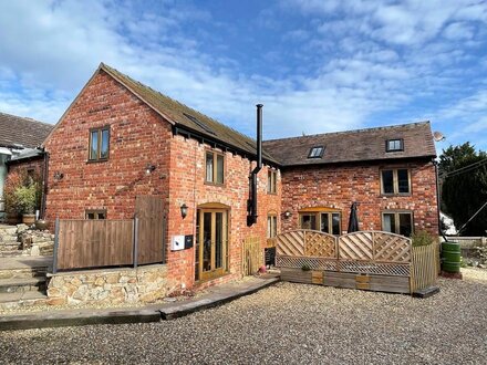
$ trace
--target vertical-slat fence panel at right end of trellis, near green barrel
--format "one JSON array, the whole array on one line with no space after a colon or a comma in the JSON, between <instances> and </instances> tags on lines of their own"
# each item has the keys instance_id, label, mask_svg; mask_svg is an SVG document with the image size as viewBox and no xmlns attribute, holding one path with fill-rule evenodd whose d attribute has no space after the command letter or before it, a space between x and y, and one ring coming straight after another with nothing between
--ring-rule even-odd
<instances>
[{"instance_id":1,"label":"vertical-slat fence panel at right end of trellis, near green barrel","mask_svg":"<svg viewBox=\"0 0 487 365\"><path fill-rule=\"evenodd\" d=\"M437 261L437 244L413 247L411 292L428 288L436 283L436 278L438 277Z\"/></svg>"}]
</instances>

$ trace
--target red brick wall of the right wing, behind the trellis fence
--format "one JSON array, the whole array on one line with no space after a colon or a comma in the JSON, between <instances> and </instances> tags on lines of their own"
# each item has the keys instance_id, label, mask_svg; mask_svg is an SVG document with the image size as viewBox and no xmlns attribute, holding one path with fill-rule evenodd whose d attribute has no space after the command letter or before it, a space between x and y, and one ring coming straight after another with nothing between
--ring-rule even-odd
<instances>
[{"instance_id":1,"label":"red brick wall of the right wing, behind the trellis fence","mask_svg":"<svg viewBox=\"0 0 487 365\"><path fill-rule=\"evenodd\" d=\"M382 196L382 168L410 168L412 194ZM358 201L361 230L381 230L383 210L411 210L415 230L426 230L437 236L435 181L435 168L431 161L288 168L282 173L282 211L289 210L292 216L282 220L282 230L299 227L300 209L331 207L341 210L342 231L346 231L350 207Z\"/></svg>"}]
</instances>

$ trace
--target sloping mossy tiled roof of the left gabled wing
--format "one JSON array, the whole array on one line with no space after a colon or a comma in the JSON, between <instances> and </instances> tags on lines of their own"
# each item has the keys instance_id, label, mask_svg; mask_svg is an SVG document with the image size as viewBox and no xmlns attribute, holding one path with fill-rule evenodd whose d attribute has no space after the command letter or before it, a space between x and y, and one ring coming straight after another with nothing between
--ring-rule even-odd
<instances>
[{"instance_id":1,"label":"sloping mossy tiled roof of the left gabled wing","mask_svg":"<svg viewBox=\"0 0 487 365\"><path fill-rule=\"evenodd\" d=\"M232 146L234 148L242 150L249 155L255 156L257 154L255 139L142 84L138 81L133 80L104 63L101 63L100 70L105 71L112 77L125 85L135 95L141 97L145 103L176 126L196 132L199 135L206 136L208 139ZM252 115L256 114L255 109L250 108L249 113L252 113ZM262 152L262 158L268 161L277 163L276 159L266 152Z\"/></svg>"}]
</instances>

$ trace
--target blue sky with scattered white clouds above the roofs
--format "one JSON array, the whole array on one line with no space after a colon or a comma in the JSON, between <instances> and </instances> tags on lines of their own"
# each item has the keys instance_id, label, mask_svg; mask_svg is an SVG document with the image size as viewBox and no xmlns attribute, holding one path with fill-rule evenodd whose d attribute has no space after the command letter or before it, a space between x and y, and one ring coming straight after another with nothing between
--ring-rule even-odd
<instances>
[{"instance_id":1,"label":"blue sky with scattered white clouds above the roofs","mask_svg":"<svg viewBox=\"0 0 487 365\"><path fill-rule=\"evenodd\" d=\"M55 123L100 62L253 136L429 119L487 150L480 0L2 1L0 111Z\"/></svg>"}]
</instances>

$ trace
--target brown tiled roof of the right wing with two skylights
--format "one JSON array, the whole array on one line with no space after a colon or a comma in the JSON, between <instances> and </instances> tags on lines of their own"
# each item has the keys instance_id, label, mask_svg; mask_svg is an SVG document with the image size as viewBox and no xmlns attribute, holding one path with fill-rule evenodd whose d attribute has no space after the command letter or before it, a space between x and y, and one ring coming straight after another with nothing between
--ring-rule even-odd
<instances>
[{"instance_id":1,"label":"brown tiled roof of the right wing with two skylights","mask_svg":"<svg viewBox=\"0 0 487 365\"><path fill-rule=\"evenodd\" d=\"M385 152L385 142L397 138L404 139L404 150ZM323 157L308 158L315 146L324 146ZM436 156L429 122L271 139L263 148L282 166Z\"/></svg>"}]
</instances>

